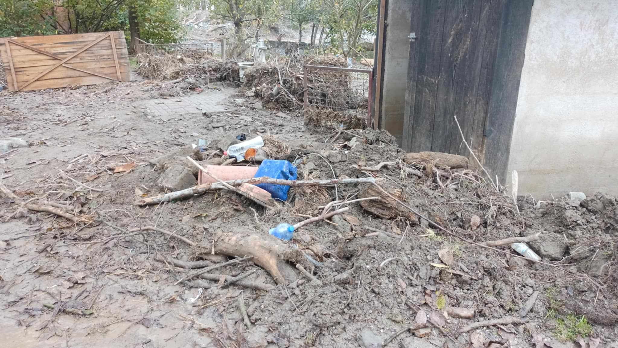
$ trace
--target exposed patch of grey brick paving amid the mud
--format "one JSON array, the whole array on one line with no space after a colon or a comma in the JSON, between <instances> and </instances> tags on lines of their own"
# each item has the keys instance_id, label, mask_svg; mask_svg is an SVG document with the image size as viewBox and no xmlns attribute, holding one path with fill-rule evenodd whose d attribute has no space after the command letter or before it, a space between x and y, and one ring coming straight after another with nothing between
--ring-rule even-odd
<instances>
[{"instance_id":1,"label":"exposed patch of grey brick paving amid the mud","mask_svg":"<svg viewBox=\"0 0 618 348\"><path fill-rule=\"evenodd\" d=\"M190 96L140 100L133 105L146 108L156 116L165 118L178 114L225 111L226 108L223 101L229 95L229 91L203 91L202 93Z\"/></svg>"}]
</instances>

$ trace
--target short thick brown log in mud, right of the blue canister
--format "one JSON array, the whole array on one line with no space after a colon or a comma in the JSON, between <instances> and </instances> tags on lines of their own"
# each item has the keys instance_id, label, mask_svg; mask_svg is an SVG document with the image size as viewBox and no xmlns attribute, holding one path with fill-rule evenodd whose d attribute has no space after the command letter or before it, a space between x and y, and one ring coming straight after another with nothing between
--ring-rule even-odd
<instances>
[{"instance_id":1,"label":"short thick brown log in mud, right of the blue canister","mask_svg":"<svg viewBox=\"0 0 618 348\"><path fill-rule=\"evenodd\" d=\"M405 202L405 195L403 190L398 189L394 184L390 182L384 182L382 188L388 192L392 197ZM396 200L388 197L384 192L378 189L375 185L363 185L360 188L359 198L365 197L379 197L377 200L363 200L360 202L360 206L364 210L385 219L396 219L399 216L407 218L411 223L418 224L418 216L407 210L404 206L400 205Z\"/></svg>"}]
</instances>

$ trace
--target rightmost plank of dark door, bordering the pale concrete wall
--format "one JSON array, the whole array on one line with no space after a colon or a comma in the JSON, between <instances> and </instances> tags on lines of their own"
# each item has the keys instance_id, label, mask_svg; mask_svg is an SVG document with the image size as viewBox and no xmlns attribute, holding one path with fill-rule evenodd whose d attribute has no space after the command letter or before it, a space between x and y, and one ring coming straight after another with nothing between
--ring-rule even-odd
<instances>
[{"instance_id":1,"label":"rightmost plank of dark door, bordering the pale concrete wall","mask_svg":"<svg viewBox=\"0 0 618 348\"><path fill-rule=\"evenodd\" d=\"M502 21L485 130L485 168L506 179L517 95L533 0L507 1Z\"/></svg>"}]
</instances>

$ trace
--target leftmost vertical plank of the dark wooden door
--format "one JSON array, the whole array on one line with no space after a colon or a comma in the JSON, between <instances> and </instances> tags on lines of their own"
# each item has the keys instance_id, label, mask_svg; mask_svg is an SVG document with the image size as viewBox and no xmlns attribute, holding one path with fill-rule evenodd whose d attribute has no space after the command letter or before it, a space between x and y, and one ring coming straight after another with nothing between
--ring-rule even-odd
<instances>
[{"instance_id":1,"label":"leftmost vertical plank of the dark wooden door","mask_svg":"<svg viewBox=\"0 0 618 348\"><path fill-rule=\"evenodd\" d=\"M410 33L415 33L417 38L410 41L410 51L408 53L408 79L405 87L405 109L404 109L404 130L401 147L405 151L412 148L412 137L414 133L414 104L417 93L417 74L418 74L418 49L421 32L421 14L425 13L425 0L412 0L410 8L412 17L410 18Z\"/></svg>"}]
</instances>

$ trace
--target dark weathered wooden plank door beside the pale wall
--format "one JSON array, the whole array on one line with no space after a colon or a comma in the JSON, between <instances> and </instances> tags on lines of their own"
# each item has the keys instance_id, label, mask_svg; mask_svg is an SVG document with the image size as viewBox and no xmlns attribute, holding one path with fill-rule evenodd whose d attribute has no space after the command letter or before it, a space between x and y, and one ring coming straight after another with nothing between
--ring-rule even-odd
<instances>
[{"instance_id":1,"label":"dark weathered wooden plank door beside the pale wall","mask_svg":"<svg viewBox=\"0 0 618 348\"><path fill-rule=\"evenodd\" d=\"M502 180L533 0L412 0L403 148L467 156Z\"/></svg>"}]
</instances>

